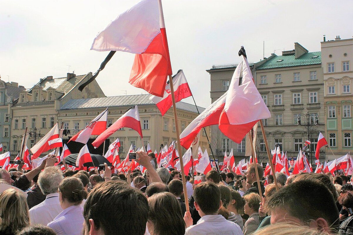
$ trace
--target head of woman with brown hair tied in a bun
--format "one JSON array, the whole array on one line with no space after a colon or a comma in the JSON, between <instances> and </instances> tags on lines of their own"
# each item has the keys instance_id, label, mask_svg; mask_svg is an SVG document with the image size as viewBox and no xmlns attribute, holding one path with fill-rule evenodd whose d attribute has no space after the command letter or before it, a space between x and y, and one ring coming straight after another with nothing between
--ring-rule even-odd
<instances>
[{"instance_id":1,"label":"head of woman with brown hair tied in a bun","mask_svg":"<svg viewBox=\"0 0 353 235\"><path fill-rule=\"evenodd\" d=\"M59 185L60 204L69 203L72 205L78 205L86 197L87 192L85 191L83 184L79 178L67 177L61 181Z\"/></svg>"}]
</instances>

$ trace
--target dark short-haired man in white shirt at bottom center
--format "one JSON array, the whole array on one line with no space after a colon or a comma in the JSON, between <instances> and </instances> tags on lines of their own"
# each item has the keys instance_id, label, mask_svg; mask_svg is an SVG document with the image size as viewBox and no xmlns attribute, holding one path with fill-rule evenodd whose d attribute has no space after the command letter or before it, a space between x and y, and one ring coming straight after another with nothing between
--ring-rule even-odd
<instances>
[{"instance_id":1,"label":"dark short-haired man in white shirt at bottom center","mask_svg":"<svg viewBox=\"0 0 353 235\"><path fill-rule=\"evenodd\" d=\"M185 235L243 235L238 224L218 215L222 201L217 185L209 181L198 184L193 196L201 219L196 225L186 228Z\"/></svg>"}]
</instances>

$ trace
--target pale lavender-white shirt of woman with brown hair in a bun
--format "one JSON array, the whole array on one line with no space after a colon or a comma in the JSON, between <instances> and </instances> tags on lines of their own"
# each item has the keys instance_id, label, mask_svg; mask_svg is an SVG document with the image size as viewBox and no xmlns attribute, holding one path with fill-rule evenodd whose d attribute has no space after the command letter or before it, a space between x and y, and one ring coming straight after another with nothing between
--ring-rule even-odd
<instances>
[{"instance_id":1,"label":"pale lavender-white shirt of woman with brown hair in a bun","mask_svg":"<svg viewBox=\"0 0 353 235\"><path fill-rule=\"evenodd\" d=\"M57 235L81 235L83 221L82 207L74 205L61 211L47 226L52 228Z\"/></svg>"}]
</instances>

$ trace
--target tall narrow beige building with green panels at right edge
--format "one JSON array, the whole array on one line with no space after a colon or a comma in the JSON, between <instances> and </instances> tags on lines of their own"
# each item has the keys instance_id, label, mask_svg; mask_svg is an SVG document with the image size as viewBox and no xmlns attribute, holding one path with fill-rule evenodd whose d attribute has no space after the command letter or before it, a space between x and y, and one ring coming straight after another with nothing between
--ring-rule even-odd
<instances>
[{"instance_id":1,"label":"tall narrow beige building with green panels at right edge","mask_svg":"<svg viewBox=\"0 0 353 235\"><path fill-rule=\"evenodd\" d=\"M352 153L353 39L321 42L324 76L325 138L329 160Z\"/></svg>"}]
</instances>

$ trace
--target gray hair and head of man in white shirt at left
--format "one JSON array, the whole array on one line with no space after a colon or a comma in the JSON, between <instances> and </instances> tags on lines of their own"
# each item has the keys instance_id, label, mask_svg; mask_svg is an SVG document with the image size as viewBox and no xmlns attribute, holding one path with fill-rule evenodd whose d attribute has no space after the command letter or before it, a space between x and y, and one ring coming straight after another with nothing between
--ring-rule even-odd
<instances>
[{"instance_id":1,"label":"gray hair and head of man in white shirt at left","mask_svg":"<svg viewBox=\"0 0 353 235\"><path fill-rule=\"evenodd\" d=\"M62 172L59 167L50 166L44 168L39 174L38 185L42 190L43 194L58 192L59 184L64 179Z\"/></svg>"}]
</instances>

